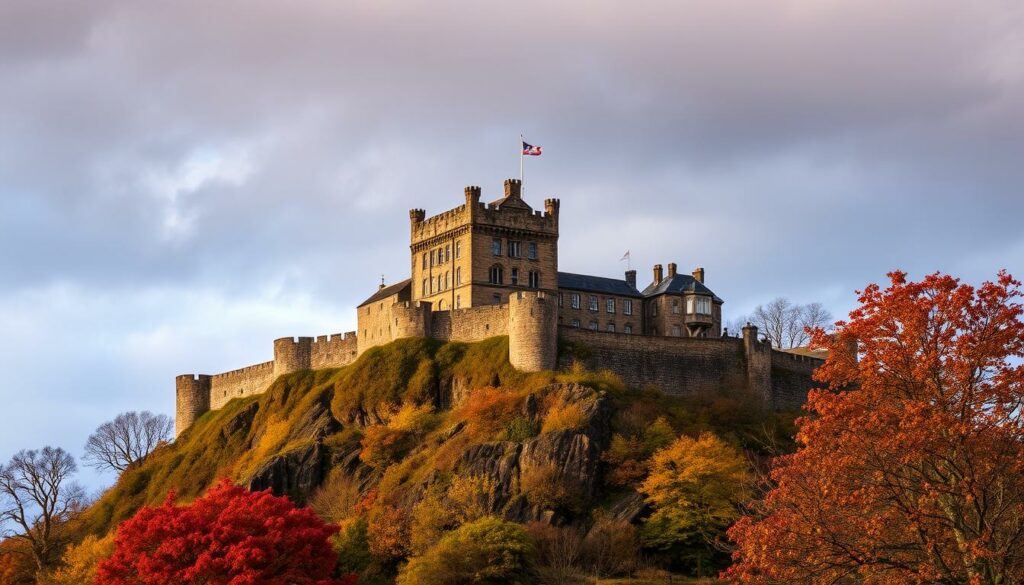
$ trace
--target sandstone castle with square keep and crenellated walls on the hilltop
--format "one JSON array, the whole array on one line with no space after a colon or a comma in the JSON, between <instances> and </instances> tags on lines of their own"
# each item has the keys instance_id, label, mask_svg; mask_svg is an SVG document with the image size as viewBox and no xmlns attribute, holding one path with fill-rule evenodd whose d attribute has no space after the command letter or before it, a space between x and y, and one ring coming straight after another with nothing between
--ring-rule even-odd
<instances>
[{"instance_id":1,"label":"sandstone castle with square keep and crenellated walls on the hilltop","mask_svg":"<svg viewBox=\"0 0 1024 585\"><path fill-rule=\"evenodd\" d=\"M176 433L228 401L264 391L278 376L352 363L403 337L476 341L509 338L509 362L523 371L573 361L608 369L631 385L668 392L752 391L776 407L799 406L821 361L778 351L758 339L722 335L723 300L705 284L703 268L679 274L654 265L637 288L622 280L558 271L559 201L544 211L522 199L519 180L504 196L465 203L433 217L410 211L410 278L380 288L356 308L357 331L273 342L273 360L216 375L176 378ZM559 340L561 351L559 351Z\"/></svg>"}]
</instances>

